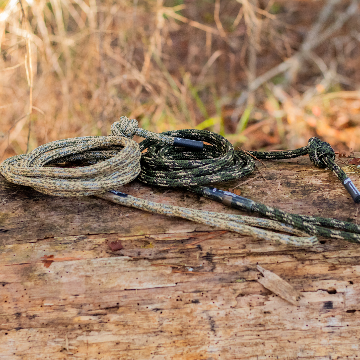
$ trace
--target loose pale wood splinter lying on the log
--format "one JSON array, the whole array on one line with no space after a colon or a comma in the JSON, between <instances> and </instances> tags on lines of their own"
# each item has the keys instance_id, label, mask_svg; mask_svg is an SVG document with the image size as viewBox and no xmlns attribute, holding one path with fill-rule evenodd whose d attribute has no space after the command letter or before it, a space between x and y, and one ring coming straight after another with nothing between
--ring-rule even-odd
<instances>
[{"instance_id":1,"label":"loose pale wood splinter lying on the log","mask_svg":"<svg viewBox=\"0 0 360 360\"><path fill-rule=\"evenodd\" d=\"M300 292L295 290L288 282L280 278L280 276L272 273L270 270L266 270L259 265L257 265L256 268L262 275L264 275L259 275L257 278L257 281L262 286L288 301L289 303L295 306L300 306L298 301L301 297L303 297Z\"/></svg>"}]
</instances>

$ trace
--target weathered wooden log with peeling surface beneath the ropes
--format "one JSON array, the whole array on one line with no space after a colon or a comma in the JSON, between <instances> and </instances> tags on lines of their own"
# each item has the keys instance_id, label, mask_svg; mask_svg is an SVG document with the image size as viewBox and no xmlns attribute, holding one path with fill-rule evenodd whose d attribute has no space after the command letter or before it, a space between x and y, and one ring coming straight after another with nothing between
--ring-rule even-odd
<instances>
[{"instance_id":1,"label":"weathered wooden log with peeling surface beneath the ropes","mask_svg":"<svg viewBox=\"0 0 360 360\"><path fill-rule=\"evenodd\" d=\"M360 173L337 162L360 188ZM360 204L309 157L265 163L269 183L244 184L243 196L359 223ZM133 181L118 190L241 213L181 189ZM2 176L0 239L1 360L360 358L357 244L286 246ZM123 248L112 251L117 240ZM257 265L300 292L298 306L263 287Z\"/></svg>"}]
</instances>

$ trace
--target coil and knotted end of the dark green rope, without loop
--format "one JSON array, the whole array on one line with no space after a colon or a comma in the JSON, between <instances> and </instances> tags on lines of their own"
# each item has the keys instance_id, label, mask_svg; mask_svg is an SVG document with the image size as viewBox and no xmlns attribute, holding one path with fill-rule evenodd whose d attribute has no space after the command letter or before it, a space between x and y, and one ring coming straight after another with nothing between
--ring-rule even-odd
<instances>
[{"instance_id":1,"label":"coil and knotted end of the dark green rope, without loop","mask_svg":"<svg viewBox=\"0 0 360 360\"><path fill-rule=\"evenodd\" d=\"M144 134L146 135L146 134ZM142 152L139 180L150 185L166 187L191 187L219 181L230 181L247 176L255 163L243 151L234 150L233 145L223 136L205 130L175 130L159 135L205 141L202 152L186 150L175 146L163 146L155 139L146 139L139 144ZM311 162L328 167L339 180L347 178L346 173L334 162L335 152L319 138L309 139L307 146L295 150L278 152L249 151L258 159L288 159L309 154Z\"/></svg>"}]
</instances>

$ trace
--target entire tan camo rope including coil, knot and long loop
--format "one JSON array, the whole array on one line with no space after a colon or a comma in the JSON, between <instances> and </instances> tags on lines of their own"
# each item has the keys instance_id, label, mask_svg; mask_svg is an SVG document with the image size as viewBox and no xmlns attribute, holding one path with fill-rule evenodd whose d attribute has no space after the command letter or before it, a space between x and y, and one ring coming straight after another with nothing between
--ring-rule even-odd
<instances>
[{"instance_id":1,"label":"entire tan camo rope including coil, knot and long loop","mask_svg":"<svg viewBox=\"0 0 360 360\"><path fill-rule=\"evenodd\" d=\"M164 144L174 144L173 137L140 129L136 120L129 121L126 117L122 117L120 122L113 123L110 136L85 136L53 141L41 145L29 154L6 159L0 165L0 171L12 183L31 186L49 195L97 195L125 206L179 216L243 235L253 235L260 239L305 246L318 243L315 236L309 237L303 231L279 221L193 210L149 202L114 190L107 192L119 185L129 183L140 172L139 145L129 139L134 134ZM44 167L75 160L93 165L77 168ZM284 231L300 237L278 234L249 225Z\"/></svg>"}]
</instances>

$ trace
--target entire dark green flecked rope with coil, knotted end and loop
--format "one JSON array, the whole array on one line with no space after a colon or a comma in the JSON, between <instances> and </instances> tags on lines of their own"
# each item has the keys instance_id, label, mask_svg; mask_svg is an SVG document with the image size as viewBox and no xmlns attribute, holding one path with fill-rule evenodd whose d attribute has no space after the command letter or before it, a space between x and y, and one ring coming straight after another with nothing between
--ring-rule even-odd
<instances>
[{"instance_id":1,"label":"entire dark green flecked rope with coil, knotted end and loop","mask_svg":"<svg viewBox=\"0 0 360 360\"><path fill-rule=\"evenodd\" d=\"M127 131L122 133L123 136L132 138L142 130L138 130L138 122L134 119L121 117L120 121L131 124L127 126ZM146 137L146 134L144 135ZM144 135L140 136L144 137ZM147 149L147 152L141 156L140 181L150 185L184 187L227 206L257 212L273 220L291 224L306 233L360 243L360 226L351 222L289 214L229 192L203 186L213 182L235 180L251 174L254 170L253 159L243 151L235 151L233 145L223 136L204 130L175 130L163 132L161 135L201 140L211 145L204 145L202 152L189 152L181 147L164 147L153 137L141 141L140 151ZM334 150L319 138L309 139L308 145L300 149L277 152L250 151L249 153L258 159L287 159L309 154L314 165L332 170L354 201L360 201L360 192L335 163ZM328 227L345 231L328 229Z\"/></svg>"}]
</instances>

